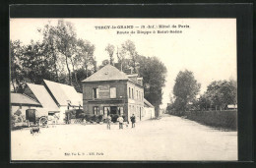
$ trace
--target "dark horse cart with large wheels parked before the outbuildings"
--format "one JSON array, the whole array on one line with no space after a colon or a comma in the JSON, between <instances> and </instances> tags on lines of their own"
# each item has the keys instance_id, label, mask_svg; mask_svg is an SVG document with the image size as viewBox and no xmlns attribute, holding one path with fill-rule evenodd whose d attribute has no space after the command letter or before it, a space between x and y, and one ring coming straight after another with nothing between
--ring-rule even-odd
<instances>
[{"instance_id":1,"label":"dark horse cart with large wheels parked before the outbuildings","mask_svg":"<svg viewBox=\"0 0 256 168\"><path fill-rule=\"evenodd\" d=\"M43 109L26 110L28 126L48 127L48 111Z\"/></svg>"}]
</instances>

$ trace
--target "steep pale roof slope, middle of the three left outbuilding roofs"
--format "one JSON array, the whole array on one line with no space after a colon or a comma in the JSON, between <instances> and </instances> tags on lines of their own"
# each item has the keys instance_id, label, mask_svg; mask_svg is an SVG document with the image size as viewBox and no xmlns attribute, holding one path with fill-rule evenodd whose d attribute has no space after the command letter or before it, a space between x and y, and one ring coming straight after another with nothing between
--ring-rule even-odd
<instances>
[{"instance_id":1,"label":"steep pale roof slope, middle of the three left outbuilding roofs","mask_svg":"<svg viewBox=\"0 0 256 168\"><path fill-rule=\"evenodd\" d=\"M49 111L59 111L58 106L43 85L28 83L27 85L43 108L47 108Z\"/></svg>"}]
</instances>

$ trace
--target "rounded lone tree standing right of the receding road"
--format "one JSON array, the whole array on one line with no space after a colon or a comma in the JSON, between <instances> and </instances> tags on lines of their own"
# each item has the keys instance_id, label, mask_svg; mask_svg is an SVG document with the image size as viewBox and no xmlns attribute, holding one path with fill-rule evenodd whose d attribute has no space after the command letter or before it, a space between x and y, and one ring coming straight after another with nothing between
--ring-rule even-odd
<instances>
[{"instance_id":1,"label":"rounded lone tree standing right of the receding road","mask_svg":"<svg viewBox=\"0 0 256 168\"><path fill-rule=\"evenodd\" d=\"M175 79L173 94L175 96L175 108L181 114L187 110L188 104L195 100L200 91L201 84L198 84L192 72L180 71Z\"/></svg>"}]
</instances>

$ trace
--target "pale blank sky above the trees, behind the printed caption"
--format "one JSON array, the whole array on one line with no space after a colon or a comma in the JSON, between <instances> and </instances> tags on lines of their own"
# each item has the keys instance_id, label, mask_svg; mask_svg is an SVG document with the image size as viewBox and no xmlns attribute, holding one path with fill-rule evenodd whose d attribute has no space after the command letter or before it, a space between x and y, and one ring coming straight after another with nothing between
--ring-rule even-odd
<instances>
[{"instance_id":1,"label":"pale blank sky above the trees, behind the printed caption","mask_svg":"<svg viewBox=\"0 0 256 168\"><path fill-rule=\"evenodd\" d=\"M55 25L57 21L58 19L11 19L10 39L19 39L24 44L29 44L31 40L41 40L42 35L37 32L37 28L43 28L49 22ZM73 24L79 38L95 44L97 65L100 65L102 60L108 59L105 51L108 43L120 46L128 39L135 43L140 55L158 57L167 68L160 106L162 108L169 102L169 95L172 94L179 71L193 72L195 79L201 84L201 94L213 81L237 79L235 19L64 19L64 21ZM160 28L162 25L170 28ZM172 28L173 25L176 28ZM125 26L130 27L124 28ZM131 33L131 30L135 33ZM137 33L138 30L152 33ZM154 30L156 33L153 33ZM158 30L182 32L158 33ZM117 33L117 31L129 33ZM115 61L117 61L116 55Z\"/></svg>"}]
</instances>

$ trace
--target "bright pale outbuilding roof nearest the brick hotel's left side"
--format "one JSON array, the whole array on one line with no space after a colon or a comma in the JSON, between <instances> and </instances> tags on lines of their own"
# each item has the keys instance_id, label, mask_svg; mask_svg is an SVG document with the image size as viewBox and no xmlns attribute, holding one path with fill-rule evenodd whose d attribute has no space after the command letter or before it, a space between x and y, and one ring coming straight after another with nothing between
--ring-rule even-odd
<instances>
[{"instance_id":1,"label":"bright pale outbuilding roof nearest the brick hotel's left side","mask_svg":"<svg viewBox=\"0 0 256 168\"><path fill-rule=\"evenodd\" d=\"M74 86L54 83L47 80L43 80L43 82L59 105L67 106L68 101L74 106L82 105L83 99L81 99L81 96Z\"/></svg>"}]
</instances>

